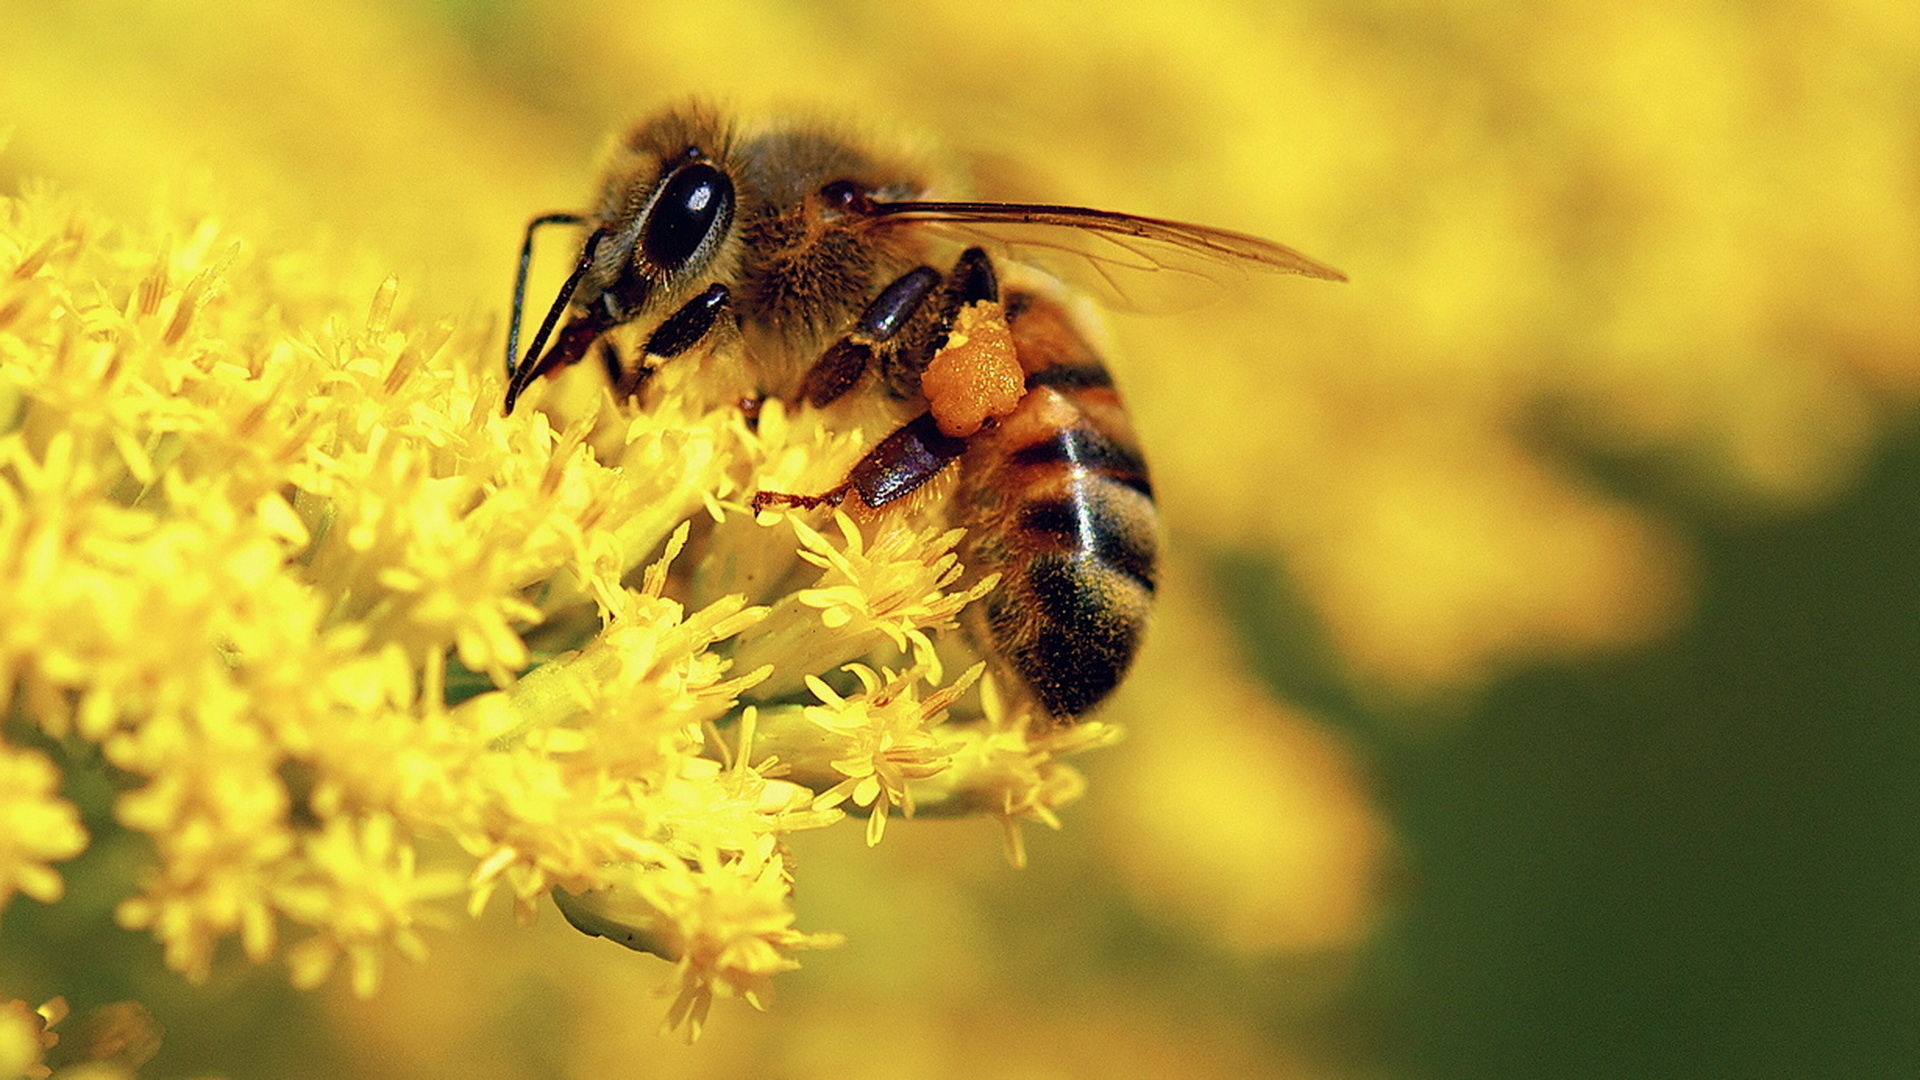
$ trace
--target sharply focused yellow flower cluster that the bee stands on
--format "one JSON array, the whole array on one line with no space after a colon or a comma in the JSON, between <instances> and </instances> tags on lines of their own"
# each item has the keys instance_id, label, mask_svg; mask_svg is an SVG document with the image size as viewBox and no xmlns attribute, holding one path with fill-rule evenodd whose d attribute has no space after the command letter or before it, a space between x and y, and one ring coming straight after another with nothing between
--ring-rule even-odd
<instances>
[{"instance_id":1,"label":"sharply focused yellow flower cluster that the bee stands on","mask_svg":"<svg viewBox=\"0 0 1920 1080\"><path fill-rule=\"evenodd\" d=\"M674 961L697 1034L835 940L793 928L783 834L1079 794L1056 759L1112 728L945 678L993 580L956 584L937 505L747 511L858 432L749 425L697 361L624 421L588 380L503 417L486 334L396 304L213 223L0 202L0 686L38 744L0 746L0 901L60 899L86 832L52 761L94 748L100 828L156 851L119 922L190 978L238 938L371 994L436 901L551 892Z\"/></svg>"}]
</instances>

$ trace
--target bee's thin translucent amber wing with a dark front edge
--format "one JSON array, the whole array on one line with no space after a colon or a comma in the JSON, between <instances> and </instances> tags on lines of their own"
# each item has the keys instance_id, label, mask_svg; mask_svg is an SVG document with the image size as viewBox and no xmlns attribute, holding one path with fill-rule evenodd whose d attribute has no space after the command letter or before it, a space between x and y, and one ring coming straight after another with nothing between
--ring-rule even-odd
<instances>
[{"instance_id":1,"label":"bee's thin translucent amber wing with a dark front edge","mask_svg":"<svg viewBox=\"0 0 1920 1080\"><path fill-rule=\"evenodd\" d=\"M1079 206L879 202L883 225L916 225L1054 271L1096 300L1131 311L1190 307L1248 273L1346 275L1284 244L1162 217Z\"/></svg>"}]
</instances>

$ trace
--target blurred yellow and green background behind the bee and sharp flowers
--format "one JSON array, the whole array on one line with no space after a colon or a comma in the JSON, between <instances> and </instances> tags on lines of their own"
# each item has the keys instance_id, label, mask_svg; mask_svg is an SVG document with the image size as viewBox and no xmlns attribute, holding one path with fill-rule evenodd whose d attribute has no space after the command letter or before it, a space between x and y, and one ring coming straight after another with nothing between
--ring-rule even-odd
<instances>
[{"instance_id":1,"label":"blurred yellow and green background behind the bee and sharp flowers","mask_svg":"<svg viewBox=\"0 0 1920 1080\"><path fill-rule=\"evenodd\" d=\"M1164 617L1029 834L801 836L851 944L657 1038L666 969L492 911L367 1001L186 986L15 899L0 990L152 1076L1920 1072L1920 10L0 0L0 183L503 319L524 221L685 96L1004 196L1275 236L1114 317ZM551 267L549 267L551 271ZM96 824L96 836L102 826ZM67 867L86 896L111 844Z\"/></svg>"}]
</instances>

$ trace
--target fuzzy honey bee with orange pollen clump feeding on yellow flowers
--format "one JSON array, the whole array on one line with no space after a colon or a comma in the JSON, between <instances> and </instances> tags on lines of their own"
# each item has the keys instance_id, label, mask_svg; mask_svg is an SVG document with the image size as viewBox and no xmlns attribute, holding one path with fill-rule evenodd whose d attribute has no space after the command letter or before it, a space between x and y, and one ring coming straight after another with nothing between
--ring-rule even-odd
<instances>
[{"instance_id":1,"label":"fuzzy honey bee with orange pollen clump feeding on yellow flowers","mask_svg":"<svg viewBox=\"0 0 1920 1080\"><path fill-rule=\"evenodd\" d=\"M927 194L910 163L824 129L741 136L701 106L632 127L591 211L526 227L505 411L595 346L614 394L636 398L659 365L722 334L737 334L758 394L812 407L885 394L910 419L837 486L758 492L755 511L845 500L877 511L958 467L950 507L968 527L964 561L975 577L1000 575L970 630L1046 719L1073 723L1119 684L1146 630L1154 492L1114 380L1064 296L1002 286L1010 265L989 248L1064 252L1102 277L1194 263L1344 275L1225 229ZM549 225L588 234L522 356L528 259ZM943 242L962 248L945 271L933 265ZM632 361L607 338L626 325L647 329Z\"/></svg>"}]
</instances>

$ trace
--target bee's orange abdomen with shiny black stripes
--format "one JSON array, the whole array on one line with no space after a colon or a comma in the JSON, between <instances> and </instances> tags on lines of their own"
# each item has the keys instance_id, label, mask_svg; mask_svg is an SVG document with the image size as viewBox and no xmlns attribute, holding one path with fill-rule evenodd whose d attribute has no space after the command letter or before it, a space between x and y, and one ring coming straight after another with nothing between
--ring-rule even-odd
<instances>
[{"instance_id":1,"label":"bee's orange abdomen with shiny black stripes","mask_svg":"<svg viewBox=\"0 0 1920 1080\"><path fill-rule=\"evenodd\" d=\"M1154 600L1158 515L1106 365L1050 300L1008 298L1027 394L966 450L970 563L995 651L1056 723L1114 692Z\"/></svg>"}]
</instances>

